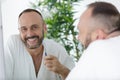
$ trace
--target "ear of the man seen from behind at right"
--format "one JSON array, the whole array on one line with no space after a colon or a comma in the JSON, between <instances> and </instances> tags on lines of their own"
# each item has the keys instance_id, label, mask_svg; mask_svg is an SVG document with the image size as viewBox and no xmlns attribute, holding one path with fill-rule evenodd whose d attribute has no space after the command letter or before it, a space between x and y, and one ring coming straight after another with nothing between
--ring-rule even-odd
<instances>
[{"instance_id":1,"label":"ear of the man seen from behind at right","mask_svg":"<svg viewBox=\"0 0 120 80\"><path fill-rule=\"evenodd\" d=\"M91 34L92 40L100 40L100 39L105 39L107 34L104 32L102 29L98 29Z\"/></svg>"}]
</instances>

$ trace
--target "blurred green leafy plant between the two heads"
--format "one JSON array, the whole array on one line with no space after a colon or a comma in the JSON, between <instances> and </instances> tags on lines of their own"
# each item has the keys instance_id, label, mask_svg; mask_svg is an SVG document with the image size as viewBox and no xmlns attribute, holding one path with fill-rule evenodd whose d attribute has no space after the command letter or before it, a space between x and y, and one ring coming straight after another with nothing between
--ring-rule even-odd
<instances>
[{"instance_id":1,"label":"blurred green leafy plant between the two heads","mask_svg":"<svg viewBox=\"0 0 120 80\"><path fill-rule=\"evenodd\" d=\"M76 40L77 31L73 25L75 22L73 3L78 0L37 0L31 2L32 8L40 10L43 13L47 23L47 37L61 43L70 56L75 61L81 56L82 50L78 49Z\"/></svg>"}]
</instances>

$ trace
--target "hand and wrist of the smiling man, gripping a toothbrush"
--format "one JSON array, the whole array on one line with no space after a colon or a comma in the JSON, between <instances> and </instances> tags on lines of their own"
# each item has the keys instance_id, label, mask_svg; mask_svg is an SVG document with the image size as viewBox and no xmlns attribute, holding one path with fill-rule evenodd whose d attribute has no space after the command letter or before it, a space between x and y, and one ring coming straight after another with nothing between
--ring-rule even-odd
<instances>
[{"instance_id":1,"label":"hand and wrist of the smiling man, gripping a toothbrush","mask_svg":"<svg viewBox=\"0 0 120 80\"><path fill-rule=\"evenodd\" d=\"M65 79L70 72L70 70L64 65L62 65L53 55L45 56L44 64L46 65L48 70L60 74L63 79Z\"/></svg>"}]
</instances>

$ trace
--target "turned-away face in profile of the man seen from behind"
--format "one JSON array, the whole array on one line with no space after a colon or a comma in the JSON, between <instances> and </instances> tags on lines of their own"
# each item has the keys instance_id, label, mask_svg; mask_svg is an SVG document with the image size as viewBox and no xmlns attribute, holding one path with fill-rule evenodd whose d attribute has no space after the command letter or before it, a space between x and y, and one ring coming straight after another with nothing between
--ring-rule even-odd
<instances>
[{"instance_id":1,"label":"turned-away face in profile of the man seen from behind","mask_svg":"<svg viewBox=\"0 0 120 80\"><path fill-rule=\"evenodd\" d=\"M78 40L82 43L84 48L87 48L88 45L92 42L91 31L89 29L91 26L90 16L91 9L87 9L80 17L80 21L78 23Z\"/></svg>"}]
</instances>

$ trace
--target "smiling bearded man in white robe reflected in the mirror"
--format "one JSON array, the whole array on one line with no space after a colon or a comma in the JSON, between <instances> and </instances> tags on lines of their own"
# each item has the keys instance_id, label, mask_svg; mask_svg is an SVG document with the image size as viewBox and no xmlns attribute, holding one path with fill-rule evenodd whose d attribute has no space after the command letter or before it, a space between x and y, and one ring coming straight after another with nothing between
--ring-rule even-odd
<instances>
[{"instance_id":1,"label":"smiling bearded man in white robe reflected in the mirror","mask_svg":"<svg viewBox=\"0 0 120 80\"><path fill-rule=\"evenodd\" d=\"M19 15L20 35L11 36L5 50L7 80L63 80L73 68L66 50L44 39L42 15L26 9Z\"/></svg>"}]
</instances>

